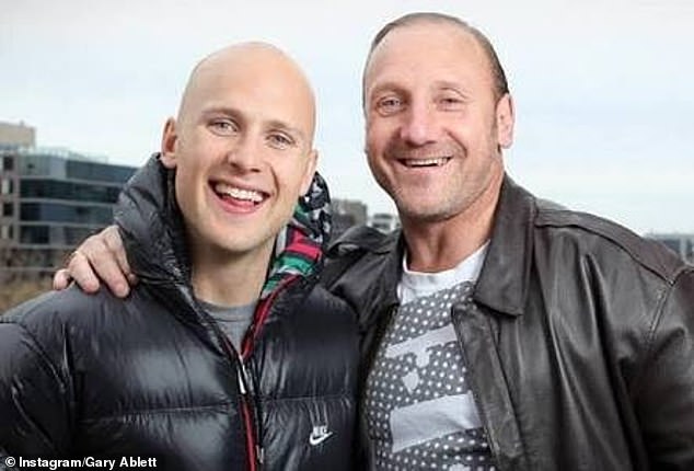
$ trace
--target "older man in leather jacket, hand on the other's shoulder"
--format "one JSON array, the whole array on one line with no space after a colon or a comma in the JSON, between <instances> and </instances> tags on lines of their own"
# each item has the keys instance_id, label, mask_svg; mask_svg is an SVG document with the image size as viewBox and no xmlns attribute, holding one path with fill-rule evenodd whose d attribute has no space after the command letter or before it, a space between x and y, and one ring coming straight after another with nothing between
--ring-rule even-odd
<instances>
[{"instance_id":1,"label":"older man in leather jacket, hand on the other's shoulder","mask_svg":"<svg viewBox=\"0 0 694 471\"><path fill-rule=\"evenodd\" d=\"M386 24L363 114L402 230L346 233L323 283L359 313L371 467L694 470L694 267L509 177L489 41L436 13ZM88 255L113 286L107 234L80 283Z\"/></svg>"}]
</instances>

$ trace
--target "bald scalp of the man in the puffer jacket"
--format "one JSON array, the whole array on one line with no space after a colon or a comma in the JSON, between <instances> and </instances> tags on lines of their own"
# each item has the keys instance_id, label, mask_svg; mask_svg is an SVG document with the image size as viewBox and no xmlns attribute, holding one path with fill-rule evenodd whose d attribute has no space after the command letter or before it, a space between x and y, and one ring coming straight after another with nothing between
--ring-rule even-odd
<instances>
[{"instance_id":1,"label":"bald scalp of the man in the puffer jacket","mask_svg":"<svg viewBox=\"0 0 694 471\"><path fill-rule=\"evenodd\" d=\"M200 60L193 69L181 99L178 120L185 122L194 108L205 103L210 88L240 78L247 78L257 90L277 93L278 100L292 100L303 107L310 117L305 140L309 146L312 145L315 96L311 84L293 59L278 47L262 42L234 44Z\"/></svg>"}]
</instances>

